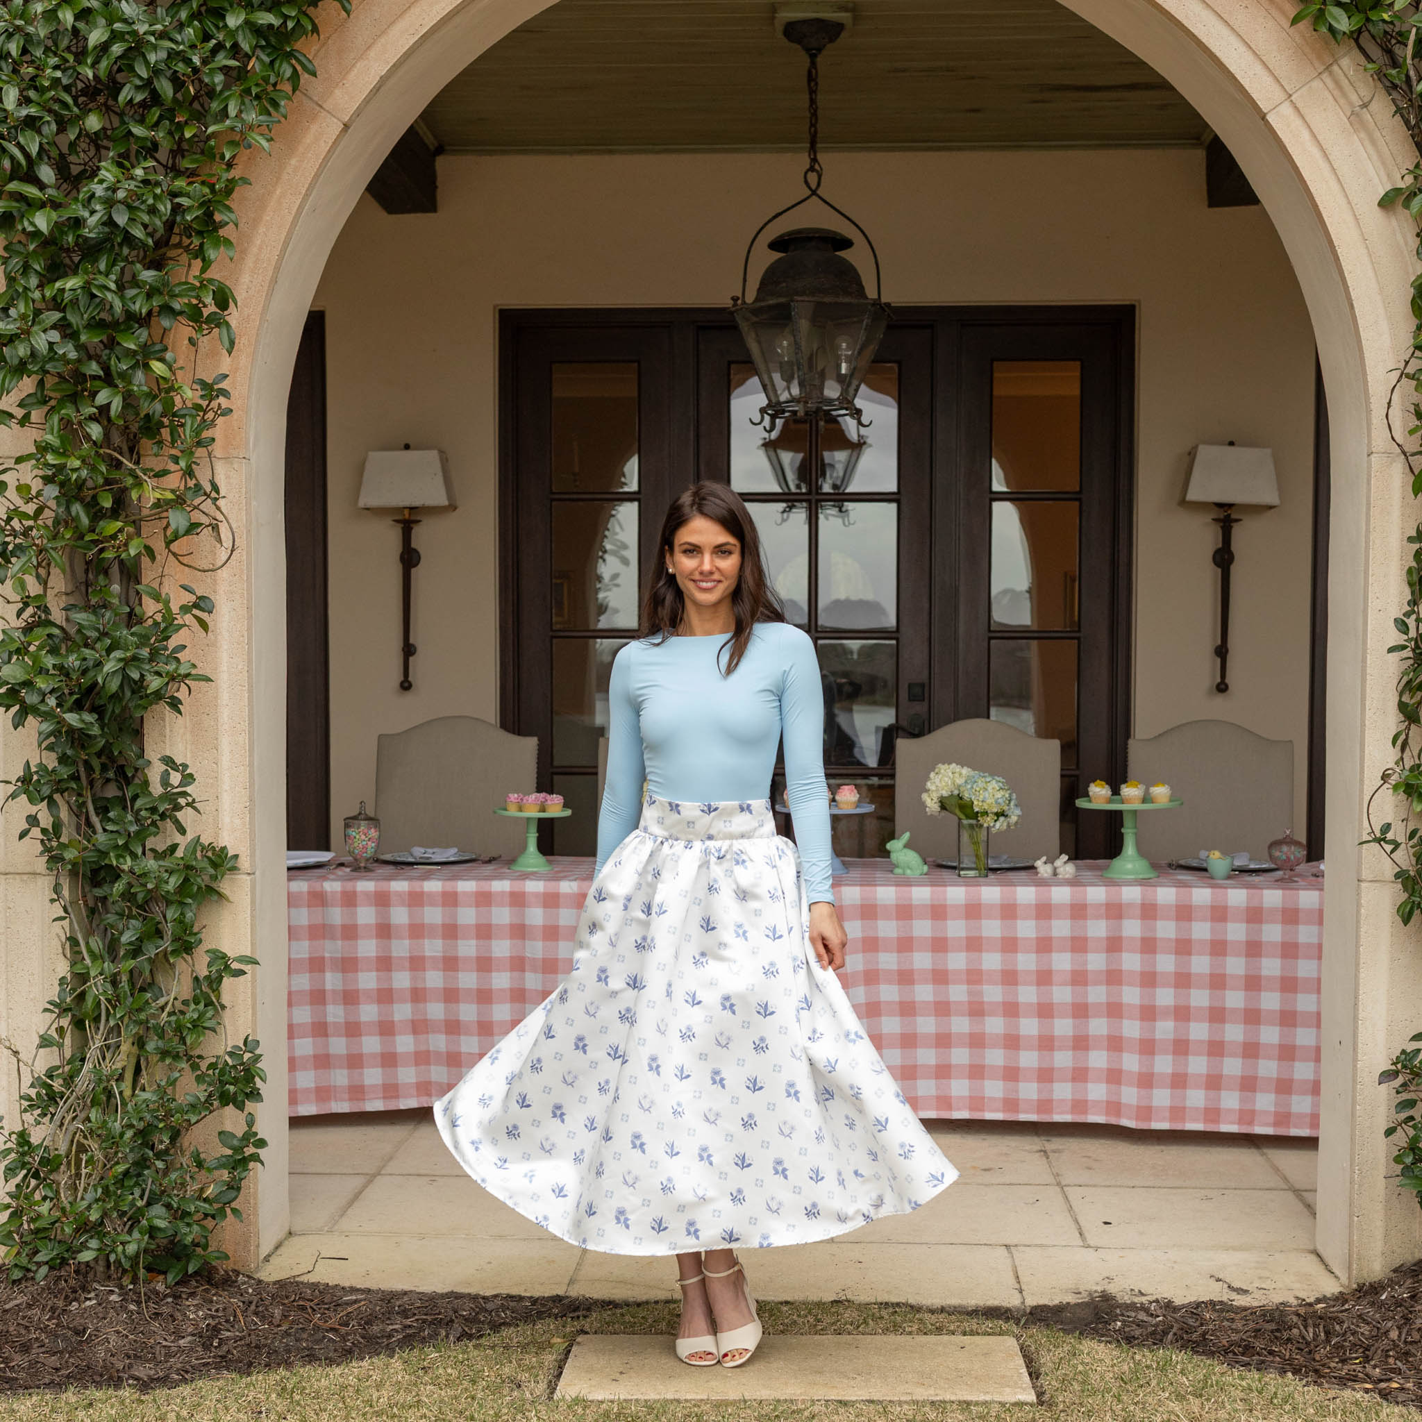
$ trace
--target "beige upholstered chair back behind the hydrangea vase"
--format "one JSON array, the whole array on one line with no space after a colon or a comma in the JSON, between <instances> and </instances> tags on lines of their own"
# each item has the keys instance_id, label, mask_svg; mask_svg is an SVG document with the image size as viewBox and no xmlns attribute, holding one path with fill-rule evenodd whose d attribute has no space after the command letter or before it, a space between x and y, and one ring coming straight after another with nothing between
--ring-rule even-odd
<instances>
[{"instance_id":1,"label":"beige upholstered chair back behind the hydrangea vase","mask_svg":"<svg viewBox=\"0 0 1422 1422\"><path fill-rule=\"evenodd\" d=\"M1015 829L993 833L988 853L1015 859L1061 853L1061 741L977 717L894 741L894 833L910 830L910 849L930 860L958 856L957 819L923 808L923 785L943 761L1001 775L1017 792L1022 818Z\"/></svg>"}]
</instances>

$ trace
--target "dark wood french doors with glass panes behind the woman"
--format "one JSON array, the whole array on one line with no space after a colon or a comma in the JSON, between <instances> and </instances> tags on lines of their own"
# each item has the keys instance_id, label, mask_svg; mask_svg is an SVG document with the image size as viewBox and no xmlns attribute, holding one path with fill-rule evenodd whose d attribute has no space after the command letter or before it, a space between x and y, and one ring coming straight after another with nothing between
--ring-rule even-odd
<instances>
[{"instance_id":1,"label":"dark wood french doors with glass panes behind the woman","mask_svg":"<svg viewBox=\"0 0 1422 1422\"><path fill-rule=\"evenodd\" d=\"M963 717L1062 742L1064 846L1079 776L1119 778L1129 688L1130 309L912 309L865 381L866 425L751 422L758 385L724 311L509 311L502 326L502 715L592 850L611 658L636 633L667 502L725 479L786 616L815 640L825 765L893 826L893 748ZM1098 843L1098 839L1101 840Z\"/></svg>"}]
</instances>

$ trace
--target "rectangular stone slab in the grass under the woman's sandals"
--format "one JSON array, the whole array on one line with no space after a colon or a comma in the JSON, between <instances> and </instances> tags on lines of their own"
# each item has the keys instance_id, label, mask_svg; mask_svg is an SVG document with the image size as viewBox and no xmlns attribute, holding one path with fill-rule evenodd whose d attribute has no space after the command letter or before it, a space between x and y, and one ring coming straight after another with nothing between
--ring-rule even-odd
<instances>
[{"instance_id":1,"label":"rectangular stone slab in the grass under the woman's sandals","mask_svg":"<svg viewBox=\"0 0 1422 1422\"><path fill-rule=\"evenodd\" d=\"M556 1396L1037 1402L1008 1334L769 1334L741 1368L687 1367L670 1337L582 1334Z\"/></svg>"}]
</instances>

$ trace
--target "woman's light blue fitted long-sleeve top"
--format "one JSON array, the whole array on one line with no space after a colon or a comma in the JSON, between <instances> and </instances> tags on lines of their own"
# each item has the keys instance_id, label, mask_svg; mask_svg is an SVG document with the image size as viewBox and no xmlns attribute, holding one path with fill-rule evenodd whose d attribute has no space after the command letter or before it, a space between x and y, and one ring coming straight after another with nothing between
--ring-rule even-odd
<instances>
[{"instance_id":1,"label":"woman's light blue fitted long-sleeve top","mask_svg":"<svg viewBox=\"0 0 1422 1422\"><path fill-rule=\"evenodd\" d=\"M643 778L658 799L764 799L784 739L785 802L805 889L811 903L833 903L815 644L789 623L757 623L727 677L721 668L729 654L729 637L715 633L630 641L613 658L597 869L637 828Z\"/></svg>"}]
</instances>

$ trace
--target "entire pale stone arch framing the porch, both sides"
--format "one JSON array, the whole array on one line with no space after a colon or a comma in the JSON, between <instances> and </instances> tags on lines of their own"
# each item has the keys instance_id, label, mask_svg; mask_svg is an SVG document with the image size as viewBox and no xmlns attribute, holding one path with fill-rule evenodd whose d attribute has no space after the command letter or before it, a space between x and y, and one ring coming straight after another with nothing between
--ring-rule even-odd
<instances>
[{"instance_id":1,"label":"entire pale stone arch framing the porch, both sides","mask_svg":"<svg viewBox=\"0 0 1422 1422\"><path fill-rule=\"evenodd\" d=\"M1317 1247L1354 1283L1422 1251L1418 1210L1386 1176L1389 1101L1369 1084L1416 1025L1422 954L1396 926L1388 865L1351 849L1362 802L1389 759L1394 668L1381 648L1405 596L1412 516L1386 428L1398 353L1411 340L1412 236L1378 193L1415 159L1408 135L1357 55L1290 27L1293 0L1064 0L1176 85L1236 155L1288 252L1308 304L1328 390L1332 444L1328 839L1322 1128ZM459 70L547 0L358 0L321 9L319 74L292 105L270 155L245 161L233 418L218 456L245 543L228 607L243 604L212 654L245 735L213 728L219 832L242 852L247 893L215 930L262 967L235 1005L267 1044L263 1129L272 1142L256 1207L230 1241L255 1263L287 1229L284 549L286 392L301 321L327 255L398 135ZM201 735L201 732L199 732ZM202 772L203 755L191 757ZM239 806L233 812L232 806ZM237 899L237 894L233 894ZM237 1024L235 1024L236 1030Z\"/></svg>"}]
</instances>

